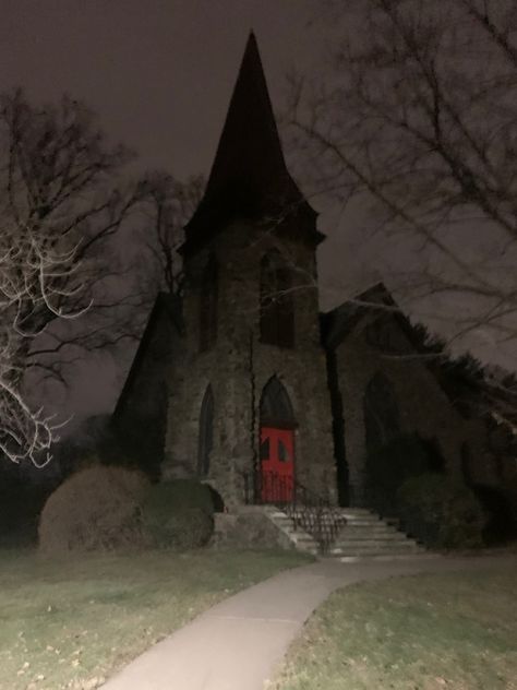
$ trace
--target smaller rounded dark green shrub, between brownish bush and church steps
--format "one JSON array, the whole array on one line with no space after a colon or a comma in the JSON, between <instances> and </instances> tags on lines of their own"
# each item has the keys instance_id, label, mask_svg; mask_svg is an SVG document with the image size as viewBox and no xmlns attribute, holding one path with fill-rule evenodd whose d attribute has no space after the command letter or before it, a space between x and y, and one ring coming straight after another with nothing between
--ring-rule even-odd
<instances>
[{"instance_id":1,"label":"smaller rounded dark green shrub, between brownish bush and church steps","mask_svg":"<svg viewBox=\"0 0 517 690\"><path fill-rule=\"evenodd\" d=\"M191 479L152 487L142 505L144 530L155 546L185 550L204 546L214 531L207 486Z\"/></svg>"}]
</instances>

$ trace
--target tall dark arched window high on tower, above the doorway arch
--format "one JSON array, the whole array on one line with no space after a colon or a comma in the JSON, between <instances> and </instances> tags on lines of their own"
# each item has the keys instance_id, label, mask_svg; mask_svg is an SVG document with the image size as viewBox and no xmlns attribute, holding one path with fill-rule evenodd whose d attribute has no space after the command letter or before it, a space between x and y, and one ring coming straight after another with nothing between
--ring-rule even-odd
<instances>
[{"instance_id":1,"label":"tall dark arched window high on tower, above the doorway arch","mask_svg":"<svg viewBox=\"0 0 517 690\"><path fill-rule=\"evenodd\" d=\"M277 251L261 262L261 342L294 347L291 272Z\"/></svg>"}]
</instances>

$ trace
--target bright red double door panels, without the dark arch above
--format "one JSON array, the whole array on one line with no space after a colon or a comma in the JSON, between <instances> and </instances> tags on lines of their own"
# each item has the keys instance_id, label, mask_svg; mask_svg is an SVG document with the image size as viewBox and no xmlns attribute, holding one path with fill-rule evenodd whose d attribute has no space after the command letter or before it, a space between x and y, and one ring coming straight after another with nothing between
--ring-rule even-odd
<instances>
[{"instance_id":1,"label":"bright red double door panels, without the dark arch above","mask_svg":"<svg viewBox=\"0 0 517 690\"><path fill-rule=\"evenodd\" d=\"M292 500L294 478L294 432L292 429L261 428L261 499L263 503Z\"/></svg>"}]
</instances>

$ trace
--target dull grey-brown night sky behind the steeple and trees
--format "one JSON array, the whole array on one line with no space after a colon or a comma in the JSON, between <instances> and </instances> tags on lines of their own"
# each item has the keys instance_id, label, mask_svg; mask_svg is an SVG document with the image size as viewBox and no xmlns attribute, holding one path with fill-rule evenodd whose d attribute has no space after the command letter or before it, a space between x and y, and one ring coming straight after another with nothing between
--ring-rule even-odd
<instances>
[{"instance_id":1,"label":"dull grey-brown night sky behind the steeple and trees","mask_svg":"<svg viewBox=\"0 0 517 690\"><path fill-rule=\"evenodd\" d=\"M98 114L110 138L139 153L143 169L207 175L250 29L281 110L287 72L323 69L330 26L318 21L320 8L313 0L3 0L1 88L21 85L37 102L68 92ZM311 203L329 236L318 257L326 308L380 279L386 249L369 239L364 210L338 215L324 201ZM468 345L515 366L514 348L496 349L482 333ZM106 383L85 378L72 391L79 415L115 403L125 372L97 367Z\"/></svg>"}]
</instances>

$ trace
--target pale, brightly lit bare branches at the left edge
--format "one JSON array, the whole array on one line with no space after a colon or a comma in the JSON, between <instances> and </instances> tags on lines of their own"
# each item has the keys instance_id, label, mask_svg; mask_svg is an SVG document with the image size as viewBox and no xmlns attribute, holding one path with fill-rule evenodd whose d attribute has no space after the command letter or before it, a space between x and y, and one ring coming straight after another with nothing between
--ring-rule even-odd
<instances>
[{"instance_id":1,"label":"pale, brightly lit bare branches at the left edge","mask_svg":"<svg viewBox=\"0 0 517 690\"><path fill-rule=\"evenodd\" d=\"M75 248L55 242L49 250L48 240L47 234L37 237L28 227L21 231L17 226L3 228L0 238L0 451L13 462L28 459L38 466L48 461L60 425L45 417L43 409L31 409L21 392L25 343L38 334L35 323L26 330L27 316L44 308L57 318L75 319L88 308L62 311L65 298L84 287L81 266Z\"/></svg>"}]
</instances>

